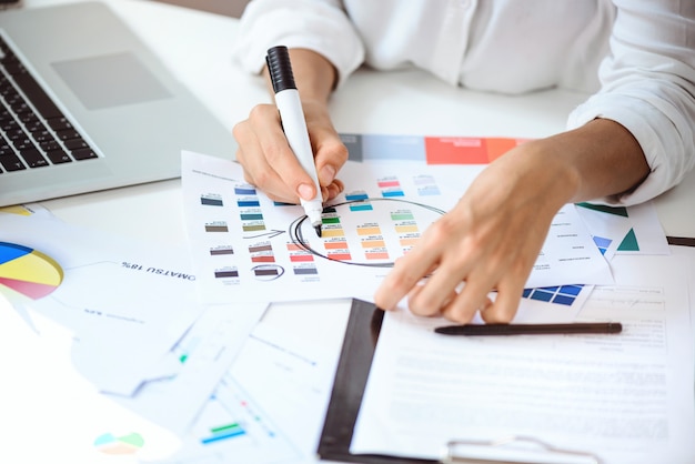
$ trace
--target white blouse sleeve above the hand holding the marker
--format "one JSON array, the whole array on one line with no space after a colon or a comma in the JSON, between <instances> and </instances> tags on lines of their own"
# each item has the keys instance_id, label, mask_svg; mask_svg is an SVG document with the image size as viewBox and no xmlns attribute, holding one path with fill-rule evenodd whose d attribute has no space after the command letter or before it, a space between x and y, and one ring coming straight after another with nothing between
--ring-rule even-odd
<instances>
[{"instance_id":1,"label":"white blouse sleeve above the hand holding the marker","mask_svg":"<svg viewBox=\"0 0 695 464\"><path fill-rule=\"evenodd\" d=\"M313 50L338 70L339 85L364 60L364 46L339 0L252 0L239 24L233 59L246 72L275 46Z\"/></svg>"}]
</instances>

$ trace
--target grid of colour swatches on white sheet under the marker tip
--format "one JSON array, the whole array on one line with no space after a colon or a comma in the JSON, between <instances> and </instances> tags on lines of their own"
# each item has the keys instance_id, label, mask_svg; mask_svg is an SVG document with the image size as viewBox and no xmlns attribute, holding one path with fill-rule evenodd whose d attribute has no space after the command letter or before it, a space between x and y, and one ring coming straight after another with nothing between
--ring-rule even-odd
<instances>
[{"instance_id":1,"label":"grid of colour swatches on white sheet under the marker tip","mask_svg":"<svg viewBox=\"0 0 695 464\"><path fill-rule=\"evenodd\" d=\"M313 297L350 296L355 289L370 294L451 206L445 199L455 198L444 196L432 174L375 173L365 182L355 167L352 175L362 181L350 181L324 208L319 238L301 206L271 201L242 180L239 165L228 168L233 172L225 179L198 170L201 182L185 199L198 283L212 303L263 300L269 291L273 301L304 299L308 291Z\"/></svg>"}]
</instances>

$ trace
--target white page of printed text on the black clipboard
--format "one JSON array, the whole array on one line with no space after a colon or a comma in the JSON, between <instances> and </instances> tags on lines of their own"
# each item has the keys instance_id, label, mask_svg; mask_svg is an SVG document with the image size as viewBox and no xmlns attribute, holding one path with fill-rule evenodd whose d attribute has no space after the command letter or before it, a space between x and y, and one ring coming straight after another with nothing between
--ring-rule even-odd
<instances>
[{"instance_id":1,"label":"white page of printed text on the black clipboard","mask_svg":"<svg viewBox=\"0 0 695 464\"><path fill-rule=\"evenodd\" d=\"M450 440L530 436L607 464L695 462L688 263L615 256L581 321L614 335L446 336L387 313L351 453L439 458Z\"/></svg>"}]
</instances>

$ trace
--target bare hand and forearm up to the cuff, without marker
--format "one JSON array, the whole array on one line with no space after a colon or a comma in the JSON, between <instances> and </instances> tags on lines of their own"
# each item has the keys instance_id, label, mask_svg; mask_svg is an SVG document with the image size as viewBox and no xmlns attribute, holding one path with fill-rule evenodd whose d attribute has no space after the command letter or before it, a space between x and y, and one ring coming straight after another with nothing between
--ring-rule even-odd
<instances>
[{"instance_id":1,"label":"bare hand and forearm up to the cuff, without marker","mask_svg":"<svg viewBox=\"0 0 695 464\"><path fill-rule=\"evenodd\" d=\"M415 314L465 324L480 311L485 322L510 322L562 205L617 195L648 172L636 140L610 120L526 142L491 163L396 261L374 302L391 310L407 295Z\"/></svg>"}]
</instances>

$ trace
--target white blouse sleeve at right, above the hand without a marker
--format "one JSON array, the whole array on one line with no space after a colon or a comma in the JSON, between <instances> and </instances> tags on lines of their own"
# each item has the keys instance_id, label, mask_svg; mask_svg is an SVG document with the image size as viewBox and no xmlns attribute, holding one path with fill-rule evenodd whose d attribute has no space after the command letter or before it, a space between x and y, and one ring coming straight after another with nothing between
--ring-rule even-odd
<instances>
[{"instance_id":1,"label":"white blouse sleeve at right, above the hand without a marker","mask_svg":"<svg viewBox=\"0 0 695 464\"><path fill-rule=\"evenodd\" d=\"M633 192L602 200L636 204L676 185L695 164L695 2L613 3L617 16L598 71L601 90L572 112L567 127L605 118L632 132L651 173Z\"/></svg>"}]
</instances>

